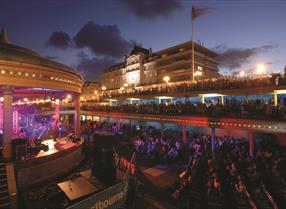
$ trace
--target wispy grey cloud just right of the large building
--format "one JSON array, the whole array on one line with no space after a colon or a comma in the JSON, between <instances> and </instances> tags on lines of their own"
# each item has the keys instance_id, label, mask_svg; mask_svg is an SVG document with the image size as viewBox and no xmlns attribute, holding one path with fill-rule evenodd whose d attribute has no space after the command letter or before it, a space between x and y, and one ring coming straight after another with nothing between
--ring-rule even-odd
<instances>
[{"instance_id":1,"label":"wispy grey cloud just right of the large building","mask_svg":"<svg viewBox=\"0 0 286 209\"><path fill-rule=\"evenodd\" d=\"M277 45L264 45L253 48L227 48L225 45L215 47L217 51L219 66L230 70L240 68L243 64L248 63L250 58L260 53L267 52L276 48Z\"/></svg>"}]
</instances>

